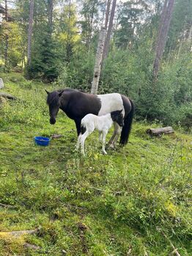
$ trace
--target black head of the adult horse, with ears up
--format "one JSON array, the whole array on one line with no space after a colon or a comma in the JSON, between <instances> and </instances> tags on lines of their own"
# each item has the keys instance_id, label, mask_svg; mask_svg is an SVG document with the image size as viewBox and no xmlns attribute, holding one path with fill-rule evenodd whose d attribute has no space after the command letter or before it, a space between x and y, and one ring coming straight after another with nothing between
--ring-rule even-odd
<instances>
[{"instance_id":1,"label":"black head of the adult horse, with ears up","mask_svg":"<svg viewBox=\"0 0 192 256\"><path fill-rule=\"evenodd\" d=\"M48 92L46 89L45 92L48 94L47 104L49 107L50 123L53 125L56 122L56 115L59 111L60 97L62 96L62 92Z\"/></svg>"}]
</instances>

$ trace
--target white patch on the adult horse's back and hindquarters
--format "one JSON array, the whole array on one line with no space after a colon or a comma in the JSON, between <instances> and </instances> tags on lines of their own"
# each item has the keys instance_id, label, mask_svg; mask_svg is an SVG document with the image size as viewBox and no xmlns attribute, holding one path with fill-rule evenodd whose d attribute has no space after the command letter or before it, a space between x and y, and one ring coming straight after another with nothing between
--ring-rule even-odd
<instances>
[{"instance_id":1,"label":"white patch on the adult horse's back and hindquarters","mask_svg":"<svg viewBox=\"0 0 192 256\"><path fill-rule=\"evenodd\" d=\"M121 110L123 117L125 116L125 109L122 102L122 96L119 93L108 93L104 95L97 95L100 99L101 108L98 116L110 113L111 111Z\"/></svg>"}]
</instances>

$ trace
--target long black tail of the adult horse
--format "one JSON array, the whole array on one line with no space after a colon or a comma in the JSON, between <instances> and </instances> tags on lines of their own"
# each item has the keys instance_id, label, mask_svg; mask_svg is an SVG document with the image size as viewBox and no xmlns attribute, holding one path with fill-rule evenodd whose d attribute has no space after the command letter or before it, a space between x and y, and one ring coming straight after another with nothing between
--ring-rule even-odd
<instances>
[{"instance_id":1,"label":"long black tail of the adult horse","mask_svg":"<svg viewBox=\"0 0 192 256\"><path fill-rule=\"evenodd\" d=\"M132 100L130 100L130 104L131 104L131 109L130 109L130 112L129 112L128 116L125 117L124 126L122 128L122 133L121 133L120 142L119 142L119 144L122 147L125 146L128 143L130 130L131 130L131 125L132 125L132 122L133 122L133 114L134 114L134 111L135 111L135 106L134 106Z\"/></svg>"}]
</instances>

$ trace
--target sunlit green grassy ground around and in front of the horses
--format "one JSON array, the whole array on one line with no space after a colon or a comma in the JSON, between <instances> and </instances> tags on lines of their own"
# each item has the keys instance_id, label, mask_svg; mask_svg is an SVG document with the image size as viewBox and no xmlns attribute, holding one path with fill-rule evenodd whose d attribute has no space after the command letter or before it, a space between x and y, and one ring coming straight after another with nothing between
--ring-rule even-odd
<instances>
[{"instance_id":1,"label":"sunlit green grassy ground around and in front of the horses","mask_svg":"<svg viewBox=\"0 0 192 256\"><path fill-rule=\"evenodd\" d=\"M191 134L151 138L147 128L160 124L135 122L126 147L103 156L94 133L84 158L72 120L59 111L49 124L44 89L53 85L0 77L18 98L0 105L1 256L166 256L173 246L192 255ZM34 145L51 134L62 137Z\"/></svg>"}]
</instances>

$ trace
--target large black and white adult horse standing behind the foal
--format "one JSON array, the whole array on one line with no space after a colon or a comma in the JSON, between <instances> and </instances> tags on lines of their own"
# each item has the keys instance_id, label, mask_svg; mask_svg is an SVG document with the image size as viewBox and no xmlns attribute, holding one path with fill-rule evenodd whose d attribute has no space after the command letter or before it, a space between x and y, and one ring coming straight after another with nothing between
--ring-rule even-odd
<instances>
[{"instance_id":1,"label":"large black and white adult horse standing behind the foal","mask_svg":"<svg viewBox=\"0 0 192 256\"><path fill-rule=\"evenodd\" d=\"M120 145L127 144L133 122L134 104L125 95L119 93L92 95L77 89L59 89L53 92L46 92L48 93L47 103L50 123L53 125L56 122L56 115L59 109L62 109L67 114L67 117L75 121L78 135L81 133L81 120L86 114L91 113L101 116L111 111L122 109L124 126L120 128L114 122L114 134L109 140L109 145L114 146L119 134L121 134Z\"/></svg>"}]
</instances>

